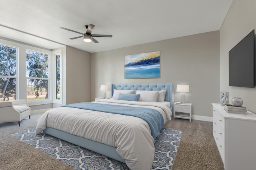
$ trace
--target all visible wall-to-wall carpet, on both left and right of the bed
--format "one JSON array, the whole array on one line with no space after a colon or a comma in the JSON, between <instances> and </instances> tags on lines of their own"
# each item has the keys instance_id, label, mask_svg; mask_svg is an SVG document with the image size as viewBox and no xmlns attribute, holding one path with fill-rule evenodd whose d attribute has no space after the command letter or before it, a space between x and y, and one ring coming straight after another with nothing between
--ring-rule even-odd
<instances>
[{"instance_id":1,"label":"all visible wall-to-wall carpet, on both left and right of the bed","mask_svg":"<svg viewBox=\"0 0 256 170\"><path fill-rule=\"evenodd\" d=\"M41 114L18 122L0 123L0 170L74 170L10 134L36 127ZM183 132L172 170L224 170L212 136L212 122L185 119L168 121L164 127Z\"/></svg>"}]
</instances>

